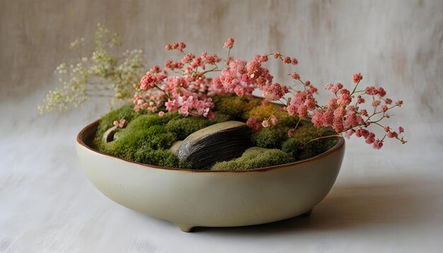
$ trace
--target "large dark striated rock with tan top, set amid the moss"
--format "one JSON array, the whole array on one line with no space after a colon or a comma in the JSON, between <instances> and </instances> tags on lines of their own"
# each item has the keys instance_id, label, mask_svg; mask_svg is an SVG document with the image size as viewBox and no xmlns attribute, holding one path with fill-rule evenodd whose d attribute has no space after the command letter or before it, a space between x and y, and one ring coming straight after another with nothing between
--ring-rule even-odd
<instances>
[{"instance_id":1,"label":"large dark striated rock with tan top, set amid the moss","mask_svg":"<svg viewBox=\"0 0 443 253\"><path fill-rule=\"evenodd\" d=\"M243 122L213 124L190 134L180 143L176 154L196 170L209 170L214 163L238 158L251 147L251 130ZM176 148L176 147L175 147Z\"/></svg>"}]
</instances>

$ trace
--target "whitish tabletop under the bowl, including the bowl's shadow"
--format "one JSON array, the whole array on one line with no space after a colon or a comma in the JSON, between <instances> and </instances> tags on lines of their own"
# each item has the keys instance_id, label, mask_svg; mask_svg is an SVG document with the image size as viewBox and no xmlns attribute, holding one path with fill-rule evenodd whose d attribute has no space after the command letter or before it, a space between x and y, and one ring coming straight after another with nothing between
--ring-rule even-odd
<instances>
[{"instance_id":1,"label":"whitish tabletop under the bowl, including the bowl's shadow","mask_svg":"<svg viewBox=\"0 0 443 253\"><path fill-rule=\"evenodd\" d=\"M0 107L8 115L0 123L7 133L0 140L0 252L443 251L440 119L411 119L404 146L375 151L348 140L335 186L309 217L183 233L88 182L75 139L96 118L91 108L39 116L30 103L20 105Z\"/></svg>"}]
</instances>

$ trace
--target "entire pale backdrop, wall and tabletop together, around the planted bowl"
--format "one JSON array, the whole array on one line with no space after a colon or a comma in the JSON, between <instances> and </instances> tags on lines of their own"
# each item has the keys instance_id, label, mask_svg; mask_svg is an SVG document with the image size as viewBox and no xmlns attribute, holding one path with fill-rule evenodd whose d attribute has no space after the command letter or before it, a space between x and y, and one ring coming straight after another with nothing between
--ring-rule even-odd
<instances>
[{"instance_id":1,"label":"entire pale backdrop, wall and tabletop together, around the planted bowl","mask_svg":"<svg viewBox=\"0 0 443 253\"><path fill-rule=\"evenodd\" d=\"M235 243L236 249L275 249L249 235L278 241L280 249L298 240L305 252L425 244L436 250L443 225L442 13L443 1L0 1L0 252L174 249L164 237L141 235L153 226L170 233L168 240L192 242L183 250L217 242L221 251ZM364 86L384 86L391 98L405 100L391 122L405 127L408 145L387 142L384 151L374 151L361 140L348 141L338 182L318 206L318 223L178 234L100 196L81 174L74 139L108 110L103 101L63 115L36 110L57 86L54 68L76 57L69 42L92 37L98 22L119 33L123 47L144 49L148 65L171 57L163 48L174 41L224 56L223 42L232 36L236 56L278 50L297 57L302 78L320 87L350 84L352 73L361 71ZM282 65L270 69L277 81L289 73ZM127 221L111 222L116 216ZM294 229L306 233L288 235Z\"/></svg>"}]
</instances>

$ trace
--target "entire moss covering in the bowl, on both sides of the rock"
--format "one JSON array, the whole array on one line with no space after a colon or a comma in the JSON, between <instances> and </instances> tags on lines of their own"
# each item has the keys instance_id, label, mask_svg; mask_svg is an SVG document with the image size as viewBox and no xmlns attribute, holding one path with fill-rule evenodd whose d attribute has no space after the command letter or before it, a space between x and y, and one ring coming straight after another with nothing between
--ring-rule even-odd
<instances>
[{"instance_id":1,"label":"entire moss covering in the bowl, on both sides of the rock","mask_svg":"<svg viewBox=\"0 0 443 253\"><path fill-rule=\"evenodd\" d=\"M93 148L139 163L191 169L190 163L180 162L176 154L169 150L174 142L211 124L228 120L246 122L249 117L263 120L275 110L280 122L251 134L251 143L255 147L246 150L240 158L216 163L212 170L250 170L291 163L323 153L337 141L336 138L311 141L319 136L335 133L327 129L317 129L309 122L300 122L294 135L289 138L287 131L296 127L298 118L289 117L277 105L263 106L259 99L218 96L214 98L214 104L216 117L212 120L204 117L181 117L178 113L166 113L159 117L150 112L134 112L132 104L124 105L100 119ZM117 129L114 141L104 141L103 134L118 119L125 119L127 127Z\"/></svg>"}]
</instances>

